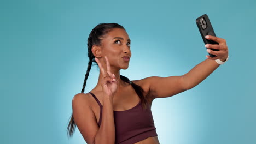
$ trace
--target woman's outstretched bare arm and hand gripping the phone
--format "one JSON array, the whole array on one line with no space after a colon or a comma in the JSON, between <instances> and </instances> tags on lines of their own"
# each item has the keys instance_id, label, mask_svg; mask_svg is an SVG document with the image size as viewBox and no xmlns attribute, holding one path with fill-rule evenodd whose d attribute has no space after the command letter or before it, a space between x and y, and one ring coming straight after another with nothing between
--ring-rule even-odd
<instances>
[{"instance_id":1,"label":"woman's outstretched bare arm and hand gripping the phone","mask_svg":"<svg viewBox=\"0 0 256 144\"><path fill-rule=\"evenodd\" d=\"M152 93L153 99L171 97L172 95L176 95L178 93L195 87L219 67L219 64L213 60L226 60L226 58L228 57L228 47L226 46L226 40L211 35L208 35L208 37L206 38L217 41L219 43L218 45L206 45L207 48L219 50L212 51L210 49L207 49L208 53L216 55L216 57L206 56L207 59L205 61L197 64L187 74L184 74L182 76L147 77L146 80L150 85L149 91Z\"/></svg>"}]
</instances>

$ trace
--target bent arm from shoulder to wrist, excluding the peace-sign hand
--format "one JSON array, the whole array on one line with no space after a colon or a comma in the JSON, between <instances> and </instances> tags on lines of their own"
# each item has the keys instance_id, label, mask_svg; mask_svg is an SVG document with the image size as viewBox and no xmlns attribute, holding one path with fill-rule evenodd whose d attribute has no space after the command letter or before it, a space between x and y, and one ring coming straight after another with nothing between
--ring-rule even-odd
<instances>
[{"instance_id":1,"label":"bent arm from shoulder to wrist, excluding the peace-sign hand","mask_svg":"<svg viewBox=\"0 0 256 144\"><path fill-rule=\"evenodd\" d=\"M88 144L115 142L115 126L113 115L113 100L104 97L102 107L101 127L98 127L94 112L92 112L86 97L90 95L77 94L72 100L73 117L77 127Z\"/></svg>"}]
</instances>

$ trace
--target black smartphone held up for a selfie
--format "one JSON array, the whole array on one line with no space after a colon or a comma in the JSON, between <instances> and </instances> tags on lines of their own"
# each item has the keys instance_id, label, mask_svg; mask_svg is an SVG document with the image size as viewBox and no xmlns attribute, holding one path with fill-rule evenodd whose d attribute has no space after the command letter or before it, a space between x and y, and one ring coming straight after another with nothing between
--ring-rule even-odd
<instances>
[{"instance_id":1,"label":"black smartphone held up for a selfie","mask_svg":"<svg viewBox=\"0 0 256 144\"><path fill-rule=\"evenodd\" d=\"M217 43L216 41L213 41L213 40L208 40L205 38L206 35L213 35L216 37L214 31L213 31L213 27L212 27L212 24L210 22L210 19L208 17L207 14L204 14L200 17L198 17L196 19L196 25L197 27L199 28L199 32L202 36L202 39L203 39L203 42L205 44L212 44L212 45L218 45L219 43ZM209 48L206 48L206 49L209 49ZM217 49L212 49L210 48L211 50L213 51L219 51ZM212 55L210 53L208 53L210 57L216 57L216 55Z\"/></svg>"}]
</instances>

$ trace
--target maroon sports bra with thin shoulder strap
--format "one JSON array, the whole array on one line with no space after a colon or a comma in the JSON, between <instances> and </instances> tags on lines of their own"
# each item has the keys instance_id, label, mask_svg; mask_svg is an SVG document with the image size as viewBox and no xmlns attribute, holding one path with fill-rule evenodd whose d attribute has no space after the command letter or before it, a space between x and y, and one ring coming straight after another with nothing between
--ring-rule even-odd
<instances>
[{"instance_id":1,"label":"maroon sports bra with thin shoulder strap","mask_svg":"<svg viewBox=\"0 0 256 144\"><path fill-rule=\"evenodd\" d=\"M100 127L102 121L102 105L97 97L89 92L100 105ZM152 111L148 105L148 109L143 110L142 103L139 103L129 110L114 111L115 123L115 144L133 144L144 140L151 136L157 136Z\"/></svg>"}]
</instances>

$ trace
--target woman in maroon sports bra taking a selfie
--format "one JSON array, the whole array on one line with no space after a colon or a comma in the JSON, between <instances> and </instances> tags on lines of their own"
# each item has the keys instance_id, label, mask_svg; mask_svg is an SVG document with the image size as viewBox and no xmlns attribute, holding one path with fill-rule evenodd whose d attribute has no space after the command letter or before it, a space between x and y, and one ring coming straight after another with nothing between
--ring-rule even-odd
<instances>
[{"instance_id":1,"label":"woman in maroon sports bra taking a selfie","mask_svg":"<svg viewBox=\"0 0 256 144\"><path fill-rule=\"evenodd\" d=\"M86 143L156 144L158 135L151 112L155 98L166 98L184 92L206 79L218 61L226 61L228 47L222 38L208 35L207 39L219 45L206 45L208 53L217 55L196 65L187 74L170 77L146 77L130 81L120 75L120 69L129 67L131 40L124 27L117 23L101 23L92 29L88 38L90 59L81 93L72 100L73 113L68 124L69 136L75 124ZM216 61L213 61L216 60ZM92 62L100 67L98 83L84 94Z\"/></svg>"}]
</instances>

